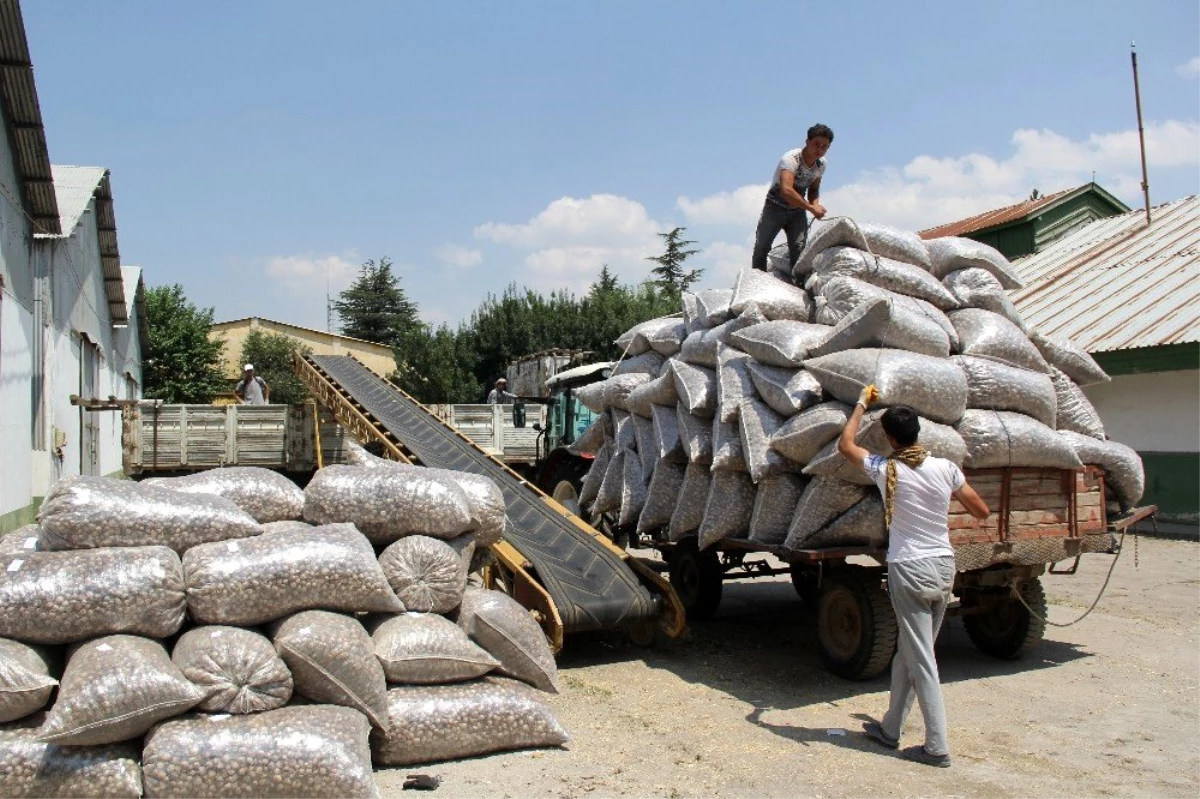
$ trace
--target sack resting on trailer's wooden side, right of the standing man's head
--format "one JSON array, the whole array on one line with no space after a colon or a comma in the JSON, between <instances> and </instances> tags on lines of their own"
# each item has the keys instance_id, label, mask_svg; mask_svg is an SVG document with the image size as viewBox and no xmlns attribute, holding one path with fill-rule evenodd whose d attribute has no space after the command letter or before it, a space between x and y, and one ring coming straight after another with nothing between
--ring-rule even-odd
<instances>
[{"instance_id":1,"label":"sack resting on trailer's wooden side, right of the standing man's head","mask_svg":"<svg viewBox=\"0 0 1200 799\"><path fill-rule=\"evenodd\" d=\"M967 410L955 429L967 445L968 469L1046 467L1079 469L1075 449L1036 419L1008 410Z\"/></svg>"}]
</instances>

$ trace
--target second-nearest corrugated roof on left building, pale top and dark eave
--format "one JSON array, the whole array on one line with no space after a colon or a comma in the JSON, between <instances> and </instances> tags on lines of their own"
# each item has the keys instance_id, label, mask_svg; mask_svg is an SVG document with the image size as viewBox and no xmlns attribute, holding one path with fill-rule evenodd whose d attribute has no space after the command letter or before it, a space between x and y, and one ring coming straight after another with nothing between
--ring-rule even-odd
<instances>
[{"instance_id":1,"label":"second-nearest corrugated roof on left building, pale top and dark eave","mask_svg":"<svg viewBox=\"0 0 1200 799\"><path fill-rule=\"evenodd\" d=\"M74 234L88 204L96 200L96 238L100 244L100 264L104 272L104 299L113 324L130 320L125 306L125 281L121 277L121 252L116 241L116 214L113 211L113 188L103 167L71 167L54 164L54 193L59 198L61 220L58 235L35 234L38 239L66 239Z\"/></svg>"}]
</instances>

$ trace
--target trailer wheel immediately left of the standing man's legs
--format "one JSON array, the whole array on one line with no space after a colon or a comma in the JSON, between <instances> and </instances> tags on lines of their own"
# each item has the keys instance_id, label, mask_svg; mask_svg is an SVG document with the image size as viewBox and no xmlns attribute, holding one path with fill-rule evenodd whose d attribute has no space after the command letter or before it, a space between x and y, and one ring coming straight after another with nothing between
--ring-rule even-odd
<instances>
[{"instance_id":1,"label":"trailer wheel immediately left of the standing man's legs","mask_svg":"<svg viewBox=\"0 0 1200 799\"><path fill-rule=\"evenodd\" d=\"M845 566L826 572L817 599L817 641L826 668L850 680L882 673L896 648L896 617L880 571Z\"/></svg>"}]
</instances>

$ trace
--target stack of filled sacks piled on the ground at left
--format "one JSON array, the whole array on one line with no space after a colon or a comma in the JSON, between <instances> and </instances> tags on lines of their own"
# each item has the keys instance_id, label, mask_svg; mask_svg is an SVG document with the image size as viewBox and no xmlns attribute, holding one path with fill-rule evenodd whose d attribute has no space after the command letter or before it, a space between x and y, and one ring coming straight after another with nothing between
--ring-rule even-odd
<instances>
[{"instance_id":1,"label":"stack of filled sacks piled on the ground at left","mask_svg":"<svg viewBox=\"0 0 1200 799\"><path fill-rule=\"evenodd\" d=\"M353 455L56 483L0 539L0 795L378 797L565 743L541 629L470 571L499 488Z\"/></svg>"}]
</instances>

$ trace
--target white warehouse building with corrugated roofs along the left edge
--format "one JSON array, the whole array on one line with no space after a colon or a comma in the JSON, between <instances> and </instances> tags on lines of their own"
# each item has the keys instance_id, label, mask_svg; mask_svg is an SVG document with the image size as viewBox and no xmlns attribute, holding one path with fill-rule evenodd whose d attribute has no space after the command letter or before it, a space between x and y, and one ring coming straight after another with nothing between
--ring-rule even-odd
<instances>
[{"instance_id":1,"label":"white warehouse building with corrugated roofs along the left edge","mask_svg":"<svg viewBox=\"0 0 1200 799\"><path fill-rule=\"evenodd\" d=\"M140 270L121 269L108 170L50 167L20 10L0 4L0 533L59 477L118 474L121 419L72 396L140 397Z\"/></svg>"}]
</instances>

